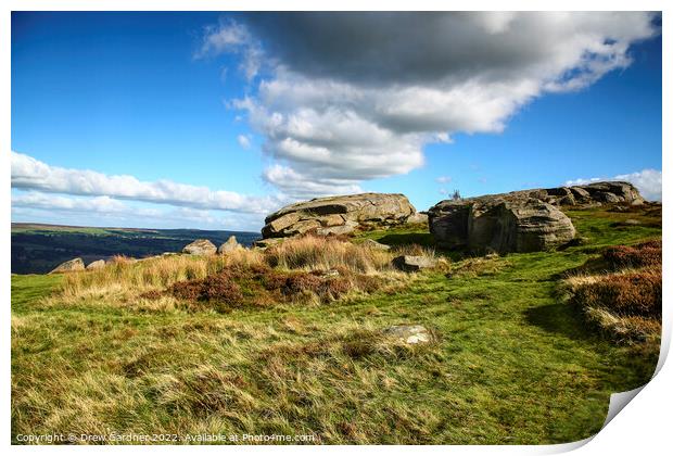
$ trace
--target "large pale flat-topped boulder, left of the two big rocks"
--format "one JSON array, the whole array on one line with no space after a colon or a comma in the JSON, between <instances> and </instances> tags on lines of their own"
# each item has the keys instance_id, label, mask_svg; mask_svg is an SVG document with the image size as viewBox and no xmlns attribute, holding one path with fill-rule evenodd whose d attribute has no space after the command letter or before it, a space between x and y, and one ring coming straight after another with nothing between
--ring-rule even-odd
<instances>
[{"instance_id":1,"label":"large pale flat-topped boulder, left of the two big rocks","mask_svg":"<svg viewBox=\"0 0 673 456\"><path fill-rule=\"evenodd\" d=\"M262 236L284 238L306 232L347 235L361 228L404 224L415 214L416 208L399 193L316 198L291 204L266 217Z\"/></svg>"}]
</instances>

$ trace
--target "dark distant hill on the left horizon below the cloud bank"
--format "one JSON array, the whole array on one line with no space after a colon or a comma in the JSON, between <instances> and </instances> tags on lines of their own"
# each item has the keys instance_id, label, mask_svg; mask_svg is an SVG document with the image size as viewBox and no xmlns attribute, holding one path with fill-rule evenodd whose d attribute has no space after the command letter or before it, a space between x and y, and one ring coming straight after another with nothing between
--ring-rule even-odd
<instances>
[{"instance_id":1,"label":"dark distant hill on the left horizon below the cloud bank","mask_svg":"<svg viewBox=\"0 0 673 456\"><path fill-rule=\"evenodd\" d=\"M216 245L231 235L251 245L257 232L199 230L99 228L30 223L12 224L12 273L43 274L67 259L80 256L85 263L113 255L141 258L163 252L179 252L195 239L209 239Z\"/></svg>"}]
</instances>

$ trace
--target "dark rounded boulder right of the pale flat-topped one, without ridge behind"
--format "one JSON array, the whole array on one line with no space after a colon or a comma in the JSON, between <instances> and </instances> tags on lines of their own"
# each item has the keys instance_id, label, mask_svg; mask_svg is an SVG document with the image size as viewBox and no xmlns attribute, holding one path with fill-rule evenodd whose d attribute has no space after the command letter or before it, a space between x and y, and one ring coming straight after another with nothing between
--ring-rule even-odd
<instances>
[{"instance_id":1,"label":"dark rounded boulder right of the pale flat-topped one, without ridge behind","mask_svg":"<svg viewBox=\"0 0 673 456\"><path fill-rule=\"evenodd\" d=\"M570 218L551 204L494 197L439 203L430 210L430 231L442 248L498 253L548 250L575 236Z\"/></svg>"}]
</instances>

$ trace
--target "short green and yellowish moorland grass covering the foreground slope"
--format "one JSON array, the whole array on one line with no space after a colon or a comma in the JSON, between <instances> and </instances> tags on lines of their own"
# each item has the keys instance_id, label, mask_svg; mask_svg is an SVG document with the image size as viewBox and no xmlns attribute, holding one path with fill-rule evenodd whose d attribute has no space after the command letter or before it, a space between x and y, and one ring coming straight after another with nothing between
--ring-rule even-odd
<instances>
[{"instance_id":1,"label":"short green and yellowish moorland grass covering the foreground slope","mask_svg":"<svg viewBox=\"0 0 673 456\"><path fill-rule=\"evenodd\" d=\"M194 266L190 279L135 273L119 294L75 301L58 296L60 281L74 279L13 276L13 439L111 430L310 434L327 444L587 438L600 429L609 395L647 382L656 364L600 337L558 299L559 279L595 252L661 236L652 226L611 226L624 215L573 212L584 245L466 258L448 273L415 275L403 288L314 305L278 302L221 314L141 304L137 290L125 292L126 283L160 290L199 280L207 266ZM363 238L403 245L427 236L391 230ZM272 266L313 268L310 255L287 253ZM367 269L350 264L352 274ZM378 268L369 275L388 277ZM119 274L111 284L126 277ZM145 278L132 282L138 277ZM49 290L56 294L41 297ZM119 305L124 296L128 305ZM402 324L424 325L434 342L404 347L381 337Z\"/></svg>"}]
</instances>

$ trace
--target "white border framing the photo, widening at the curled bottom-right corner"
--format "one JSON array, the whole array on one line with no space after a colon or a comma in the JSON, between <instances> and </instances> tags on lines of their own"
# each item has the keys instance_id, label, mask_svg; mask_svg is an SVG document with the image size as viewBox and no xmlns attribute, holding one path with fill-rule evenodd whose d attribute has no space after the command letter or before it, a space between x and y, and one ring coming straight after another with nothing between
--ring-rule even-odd
<instances>
[{"instance_id":1,"label":"white border framing the photo, widening at the curled bottom-right corner","mask_svg":"<svg viewBox=\"0 0 673 456\"><path fill-rule=\"evenodd\" d=\"M11 97L10 83L10 65L11 65L11 11L255 11L255 10L384 10L384 11L434 11L434 10L470 10L470 11L490 11L490 10L520 10L520 11L662 11L663 26L666 33L663 33L663 151L671 151L671 34L669 31L668 11L670 2L660 0L639 0L639 1L599 1L599 0L547 0L547 1L525 1L525 0L471 0L471 1L428 1L415 0L412 2L402 2L390 0L385 2L365 2L356 0L327 0L319 3L306 0L285 0L282 3L269 0L232 0L227 2L216 2L207 0L5 0L2 2L2 22L0 23L0 36L2 37L2 46L0 49L0 59L2 65L0 67L2 83L0 85L4 100L1 112L2 127L0 128L0 139L3 144L3 153L0 154L0 176L4 186L4 194L0 198L1 217L3 236L0 240L0 252L8 258L10 253L10 150L11 150L11 105L9 103ZM666 53L669 51L669 53ZM670 153L663 155L663 168L669 169L671 162ZM665 174L664 174L665 175ZM671 187L663 181L663 200L671 201ZM664 210L663 228L664 232L670 227L669 211ZM664 242L664 276L670 270L671 249ZM10 383L11 383L11 366L10 366L10 262L7 259L0 263L0 293L2 293L2 326L1 340L2 346L2 397L1 406L4 411L2 420L2 429L0 433L0 444L10 445ZM657 455L663 453L664 448L670 451L673 432L670 430L669 419L671 417L672 394L670 385L673 384L673 373L671 372L670 363L663 364L665 353L671 340L671 315L669 307L669 280L664 280L664 328L663 328L663 351L660 360L660 371L647 384L635 400L626 406L624 411L618 414L608 426L600 431L593 440L587 442L577 442L563 445L549 446L421 446L421 447L381 447L381 446L326 446L326 447L278 447L278 446L240 446L240 447L221 447L221 446L198 446L191 448L172 446L172 447L115 447L104 446L97 451L103 453L140 453L164 451L168 453L182 451L198 452L217 452L217 453L249 453L255 455L270 455L277 453L291 453L299 455L307 455L313 452L323 452L326 454L374 454L385 452L385 454L406 454L411 452L423 452L428 454L498 454L498 455L520 455L520 454L550 454L561 453L576 448L576 454L613 454L613 455L633 455L651 454ZM663 364L663 365L662 365ZM582 444L585 444L582 446ZM11 451L17 453L47 453L47 454L64 454L64 452L88 451L73 447L23 447L13 446Z\"/></svg>"}]
</instances>

